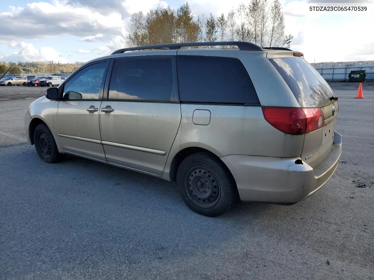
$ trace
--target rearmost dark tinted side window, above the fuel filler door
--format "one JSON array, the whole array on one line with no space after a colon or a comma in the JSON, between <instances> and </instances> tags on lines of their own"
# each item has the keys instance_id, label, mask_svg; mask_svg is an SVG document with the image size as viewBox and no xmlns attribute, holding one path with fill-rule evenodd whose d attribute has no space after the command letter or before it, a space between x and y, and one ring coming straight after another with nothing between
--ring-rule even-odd
<instances>
[{"instance_id":1,"label":"rearmost dark tinted side window, above the fuel filler door","mask_svg":"<svg viewBox=\"0 0 374 280\"><path fill-rule=\"evenodd\" d=\"M259 104L252 81L239 59L184 55L177 59L182 102Z\"/></svg>"}]
</instances>

